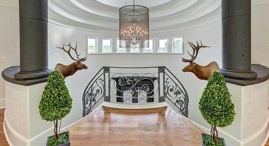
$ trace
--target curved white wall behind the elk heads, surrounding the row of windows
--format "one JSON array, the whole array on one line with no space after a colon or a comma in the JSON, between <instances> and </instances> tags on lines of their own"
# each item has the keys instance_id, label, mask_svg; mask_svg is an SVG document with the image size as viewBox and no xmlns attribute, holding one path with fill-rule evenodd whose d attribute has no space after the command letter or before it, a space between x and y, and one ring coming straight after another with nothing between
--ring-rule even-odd
<instances>
[{"instance_id":1,"label":"curved white wall behind the elk heads, surrounding the row of windows","mask_svg":"<svg viewBox=\"0 0 269 146\"><path fill-rule=\"evenodd\" d=\"M172 33L151 34L151 38L167 37L167 36L181 36L184 35L184 49L190 49L187 41L201 40L204 45L212 46L211 48L203 48L199 51L196 58L196 63L206 65L211 61L217 61L221 64L221 22L217 22L204 27L189 29L185 31L178 31ZM86 36L102 37L105 36L116 38L118 34L104 34L94 33L89 31L81 31L70 28L61 27L49 23L49 68L54 69L57 63L70 64L74 61L61 49L55 46L62 46L63 42L78 41L78 52L86 55ZM208 32L214 32L208 33ZM201 35L202 34L202 35ZM197 79L192 73L184 73L181 70L188 65L183 63L181 57L188 58L188 53L184 50L184 54L102 54L102 55L88 55L87 61L84 64L88 66L87 70L78 71L71 77L65 79L66 85L73 98L73 108L70 114L67 115L63 124L66 126L72 123L75 119L82 116L82 93L89 83L91 78L103 66L120 66L120 67L150 67L150 66L166 66L172 73L174 73L183 83L188 91L189 103L189 117L191 119L198 119L198 123L205 123L202 120L201 114L198 110L198 101L201 97L203 88L207 81ZM147 63L145 63L147 62ZM192 92L196 89L196 92ZM79 114L78 114L79 113ZM72 117L72 118L71 118ZM194 118L196 117L196 118ZM199 117L199 118L197 118Z\"/></svg>"}]
</instances>

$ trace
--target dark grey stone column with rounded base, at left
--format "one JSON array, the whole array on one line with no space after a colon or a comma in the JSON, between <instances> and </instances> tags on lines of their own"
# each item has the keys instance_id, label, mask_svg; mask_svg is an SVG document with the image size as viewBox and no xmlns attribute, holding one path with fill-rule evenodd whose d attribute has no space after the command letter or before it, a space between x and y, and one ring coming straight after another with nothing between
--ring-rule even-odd
<instances>
[{"instance_id":1,"label":"dark grey stone column with rounded base, at left","mask_svg":"<svg viewBox=\"0 0 269 146\"><path fill-rule=\"evenodd\" d=\"M48 69L48 1L19 0L20 70L16 80L46 78Z\"/></svg>"}]
</instances>

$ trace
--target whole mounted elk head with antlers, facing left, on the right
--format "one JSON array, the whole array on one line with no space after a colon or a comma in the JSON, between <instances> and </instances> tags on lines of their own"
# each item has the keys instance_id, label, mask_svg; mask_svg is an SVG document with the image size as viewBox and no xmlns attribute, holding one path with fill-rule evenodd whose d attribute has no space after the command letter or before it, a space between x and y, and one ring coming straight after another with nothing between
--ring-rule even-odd
<instances>
[{"instance_id":1,"label":"whole mounted elk head with antlers, facing left, on the right","mask_svg":"<svg viewBox=\"0 0 269 146\"><path fill-rule=\"evenodd\" d=\"M185 68L183 68L183 72L192 72L194 73L194 75L201 79L201 80L208 80L212 73L214 71L217 71L218 70L218 65L215 61L213 62L210 62L209 64L207 64L206 66L201 66L201 65L198 65L197 63L193 62L197 55L198 55L198 51L200 48L206 48L206 47L209 47L209 46L203 46L202 42L201 42L201 45L199 45L198 41L197 42L197 45L195 46L192 42L188 42L188 44L192 47L192 50L193 50L193 53L192 55L189 53L188 51L188 54L192 57L191 59L184 59L182 57L182 61L183 62L189 62L190 64L188 66L186 66Z\"/></svg>"}]
</instances>

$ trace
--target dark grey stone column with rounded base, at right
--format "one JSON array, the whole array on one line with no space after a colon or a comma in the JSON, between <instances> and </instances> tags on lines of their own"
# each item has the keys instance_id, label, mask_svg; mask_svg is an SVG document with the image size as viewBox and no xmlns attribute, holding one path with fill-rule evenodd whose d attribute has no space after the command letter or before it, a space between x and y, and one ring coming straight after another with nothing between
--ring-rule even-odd
<instances>
[{"instance_id":1,"label":"dark grey stone column with rounded base, at right","mask_svg":"<svg viewBox=\"0 0 269 146\"><path fill-rule=\"evenodd\" d=\"M254 80L251 70L251 0L222 0L222 68L227 78Z\"/></svg>"}]
</instances>

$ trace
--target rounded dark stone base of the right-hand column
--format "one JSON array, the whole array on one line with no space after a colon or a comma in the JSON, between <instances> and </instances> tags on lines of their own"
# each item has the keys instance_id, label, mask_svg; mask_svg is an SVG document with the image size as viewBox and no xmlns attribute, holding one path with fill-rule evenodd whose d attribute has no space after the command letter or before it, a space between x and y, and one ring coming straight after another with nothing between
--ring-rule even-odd
<instances>
[{"instance_id":1,"label":"rounded dark stone base of the right-hand column","mask_svg":"<svg viewBox=\"0 0 269 146\"><path fill-rule=\"evenodd\" d=\"M258 74L252 70L233 70L221 68L218 70L225 78L234 78L240 80L255 80Z\"/></svg>"}]
</instances>

